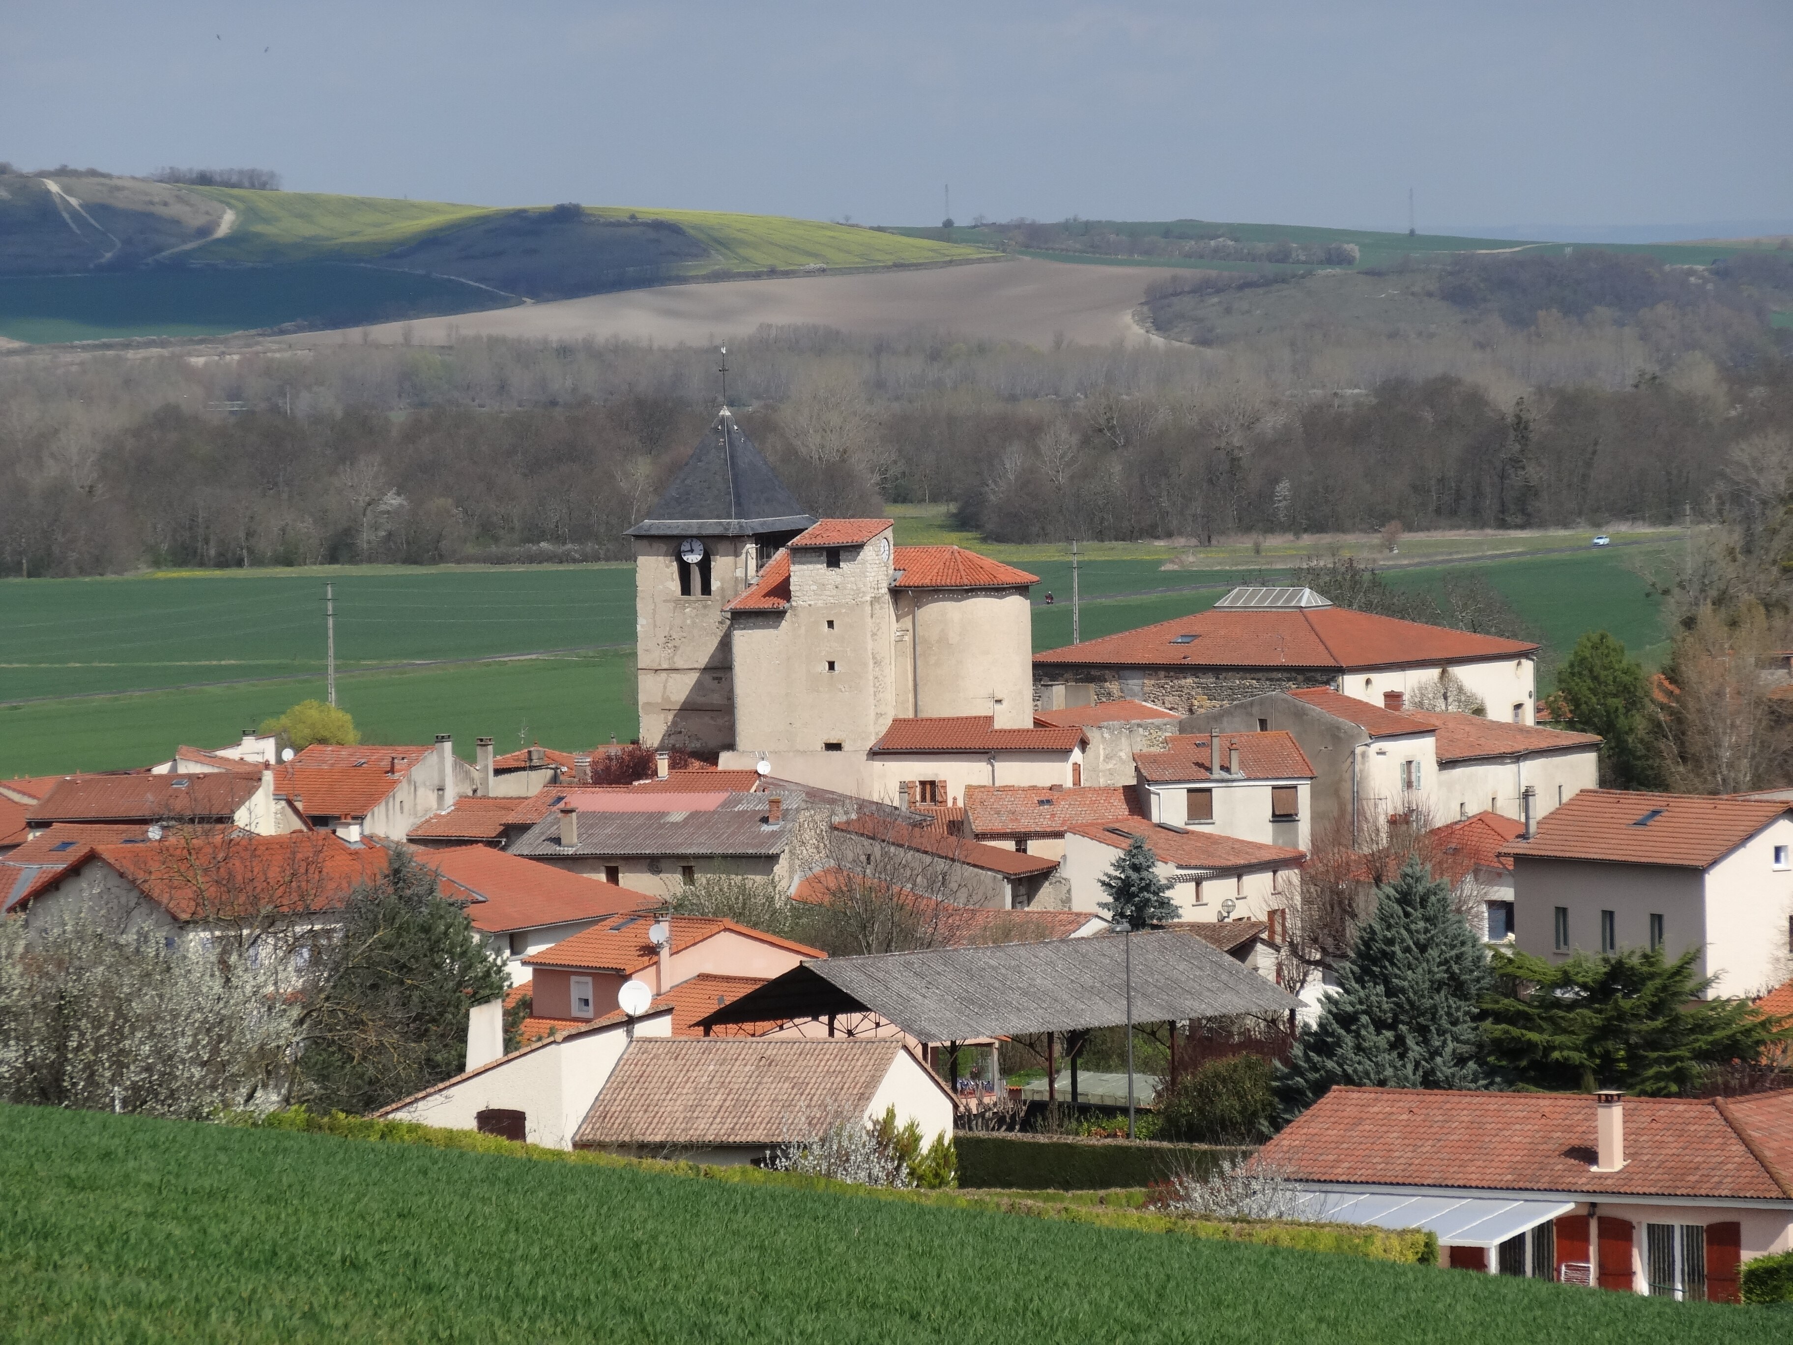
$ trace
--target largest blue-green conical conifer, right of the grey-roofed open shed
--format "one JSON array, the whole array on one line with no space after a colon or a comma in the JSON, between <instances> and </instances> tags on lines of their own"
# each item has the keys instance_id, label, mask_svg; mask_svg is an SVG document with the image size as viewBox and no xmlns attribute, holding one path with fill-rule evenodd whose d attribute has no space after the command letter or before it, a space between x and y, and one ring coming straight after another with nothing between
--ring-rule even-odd
<instances>
[{"instance_id":1,"label":"largest blue-green conical conifer, right of the grey-roofed open shed","mask_svg":"<svg viewBox=\"0 0 1793 1345\"><path fill-rule=\"evenodd\" d=\"M1334 1083L1485 1089L1477 1004L1488 954L1416 857L1379 891L1375 915L1339 967L1339 994L1295 1042L1277 1078L1293 1119Z\"/></svg>"}]
</instances>

